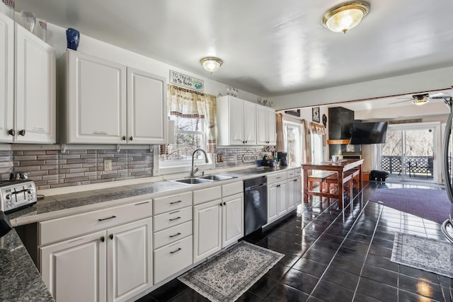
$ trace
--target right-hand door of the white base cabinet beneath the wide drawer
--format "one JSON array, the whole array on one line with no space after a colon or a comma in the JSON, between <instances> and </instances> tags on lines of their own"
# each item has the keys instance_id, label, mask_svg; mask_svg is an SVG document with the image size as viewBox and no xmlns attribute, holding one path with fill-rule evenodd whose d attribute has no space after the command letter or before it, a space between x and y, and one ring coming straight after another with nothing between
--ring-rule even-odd
<instances>
[{"instance_id":1,"label":"right-hand door of the white base cabinet beneath the wide drawer","mask_svg":"<svg viewBox=\"0 0 453 302\"><path fill-rule=\"evenodd\" d=\"M108 301L126 301L152 286L151 218L107 232Z\"/></svg>"}]
</instances>

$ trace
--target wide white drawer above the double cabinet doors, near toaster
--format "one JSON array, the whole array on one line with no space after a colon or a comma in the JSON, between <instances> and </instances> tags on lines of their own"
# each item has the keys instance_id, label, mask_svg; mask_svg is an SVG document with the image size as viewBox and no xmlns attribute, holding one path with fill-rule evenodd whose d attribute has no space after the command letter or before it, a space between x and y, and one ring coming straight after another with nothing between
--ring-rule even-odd
<instances>
[{"instance_id":1,"label":"wide white drawer above the double cabinet doors, near toaster","mask_svg":"<svg viewBox=\"0 0 453 302\"><path fill-rule=\"evenodd\" d=\"M151 202L147 201L42 221L39 244L46 245L150 216Z\"/></svg>"}]
</instances>

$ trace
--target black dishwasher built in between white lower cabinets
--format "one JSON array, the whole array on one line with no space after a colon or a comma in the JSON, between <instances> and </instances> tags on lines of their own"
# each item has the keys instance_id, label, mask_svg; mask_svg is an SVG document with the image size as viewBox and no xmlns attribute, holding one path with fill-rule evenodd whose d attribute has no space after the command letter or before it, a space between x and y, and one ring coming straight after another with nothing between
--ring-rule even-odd
<instances>
[{"instance_id":1,"label":"black dishwasher built in between white lower cabinets","mask_svg":"<svg viewBox=\"0 0 453 302\"><path fill-rule=\"evenodd\" d=\"M244 180L244 235L258 230L268 222L268 186L266 177Z\"/></svg>"}]
</instances>

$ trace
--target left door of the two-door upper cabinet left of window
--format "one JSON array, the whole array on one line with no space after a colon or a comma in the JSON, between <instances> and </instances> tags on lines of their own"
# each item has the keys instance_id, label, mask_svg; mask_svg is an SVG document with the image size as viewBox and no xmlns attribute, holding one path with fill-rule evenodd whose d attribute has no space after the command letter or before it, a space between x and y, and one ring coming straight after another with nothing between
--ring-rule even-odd
<instances>
[{"instance_id":1,"label":"left door of the two-door upper cabinet left of window","mask_svg":"<svg viewBox=\"0 0 453 302\"><path fill-rule=\"evenodd\" d=\"M126 144L126 67L81 52L67 52L67 142Z\"/></svg>"}]
</instances>

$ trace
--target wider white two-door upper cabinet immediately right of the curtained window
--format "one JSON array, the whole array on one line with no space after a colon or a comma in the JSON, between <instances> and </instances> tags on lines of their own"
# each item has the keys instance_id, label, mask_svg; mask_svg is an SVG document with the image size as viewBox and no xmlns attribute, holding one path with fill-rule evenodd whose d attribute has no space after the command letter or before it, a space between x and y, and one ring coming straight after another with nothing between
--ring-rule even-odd
<instances>
[{"instance_id":1,"label":"wider white two-door upper cabinet immediately right of the curtained window","mask_svg":"<svg viewBox=\"0 0 453 302\"><path fill-rule=\"evenodd\" d=\"M256 145L256 104L231 95L217 98L219 146Z\"/></svg>"}]
</instances>

